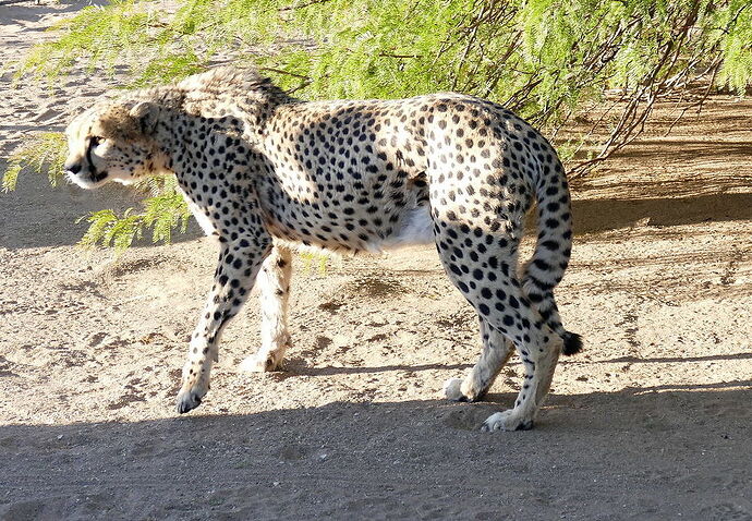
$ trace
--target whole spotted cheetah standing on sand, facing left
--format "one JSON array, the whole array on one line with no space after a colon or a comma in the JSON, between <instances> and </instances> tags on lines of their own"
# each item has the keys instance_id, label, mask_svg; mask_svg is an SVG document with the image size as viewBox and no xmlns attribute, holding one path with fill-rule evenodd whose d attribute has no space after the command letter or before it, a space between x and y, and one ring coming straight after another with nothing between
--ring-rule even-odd
<instances>
[{"instance_id":1,"label":"whole spotted cheetah standing on sand, facing left","mask_svg":"<svg viewBox=\"0 0 752 521\"><path fill-rule=\"evenodd\" d=\"M65 132L72 182L95 189L174 174L205 232L218 239L179 413L208 391L222 330L254 283L262 347L242 368L280 366L298 245L357 253L434 243L477 312L483 344L466 377L446 383L446 397L482 398L514 350L524 365L514 407L489 416L486 431L531 428L560 353L581 349L554 299L572 242L561 162L535 129L492 101L453 93L304 101L256 71L218 68L105 97ZM533 202L535 253L518 267Z\"/></svg>"}]
</instances>

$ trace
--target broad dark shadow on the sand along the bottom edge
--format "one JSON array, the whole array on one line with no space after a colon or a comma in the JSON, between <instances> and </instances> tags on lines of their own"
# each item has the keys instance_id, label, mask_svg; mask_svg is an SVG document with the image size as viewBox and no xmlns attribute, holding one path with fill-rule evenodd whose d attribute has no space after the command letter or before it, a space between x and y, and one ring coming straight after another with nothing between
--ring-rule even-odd
<instances>
[{"instance_id":1,"label":"broad dark shadow on the sand along the bottom edge","mask_svg":"<svg viewBox=\"0 0 752 521\"><path fill-rule=\"evenodd\" d=\"M553 396L524 433L478 431L508 393L0 426L0 517L749 519L752 380L733 385Z\"/></svg>"}]
</instances>

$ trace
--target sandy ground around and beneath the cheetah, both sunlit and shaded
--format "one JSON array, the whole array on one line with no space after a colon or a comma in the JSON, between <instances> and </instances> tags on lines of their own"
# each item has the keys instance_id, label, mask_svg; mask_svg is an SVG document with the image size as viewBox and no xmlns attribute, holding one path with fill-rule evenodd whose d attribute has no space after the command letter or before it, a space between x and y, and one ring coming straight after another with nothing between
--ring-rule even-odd
<instances>
[{"instance_id":1,"label":"sandy ground around and beneath the cheetah, both sunlit and shaded","mask_svg":"<svg viewBox=\"0 0 752 521\"><path fill-rule=\"evenodd\" d=\"M81 5L0 7L0 60ZM107 86L9 78L2 157ZM664 136L674 109L573 184L558 300L586 350L522 433L480 431L513 401L514 360L484 402L441 399L480 341L432 249L296 259L284 371L236 371L251 301L177 416L215 246L194 227L82 251L75 219L133 196L22 178L0 194L0 519L752 519L752 102L713 98Z\"/></svg>"}]
</instances>

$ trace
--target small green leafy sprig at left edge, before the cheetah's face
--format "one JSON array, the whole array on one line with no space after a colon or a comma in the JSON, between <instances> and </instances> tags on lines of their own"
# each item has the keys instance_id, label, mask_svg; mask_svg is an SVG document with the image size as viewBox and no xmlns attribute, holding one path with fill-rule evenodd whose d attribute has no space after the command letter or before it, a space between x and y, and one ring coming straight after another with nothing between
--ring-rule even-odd
<instances>
[{"instance_id":1,"label":"small green leafy sprig at left edge, before the cheetah's face","mask_svg":"<svg viewBox=\"0 0 752 521\"><path fill-rule=\"evenodd\" d=\"M15 190L19 174L23 171L47 173L50 184L57 185L63 174L66 147L65 136L59 132L29 134L8 160L8 167L2 177L2 191Z\"/></svg>"}]
</instances>

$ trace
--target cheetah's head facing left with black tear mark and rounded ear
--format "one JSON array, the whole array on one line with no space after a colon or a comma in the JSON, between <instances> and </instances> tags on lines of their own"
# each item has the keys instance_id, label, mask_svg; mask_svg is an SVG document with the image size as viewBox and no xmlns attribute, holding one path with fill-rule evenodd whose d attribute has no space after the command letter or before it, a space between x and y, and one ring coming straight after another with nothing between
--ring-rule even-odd
<instances>
[{"instance_id":1,"label":"cheetah's head facing left with black tear mark and rounded ear","mask_svg":"<svg viewBox=\"0 0 752 521\"><path fill-rule=\"evenodd\" d=\"M104 101L76 117L65 129L68 178L83 189L95 189L158 173L161 161L154 134L159 110L148 101Z\"/></svg>"}]
</instances>

